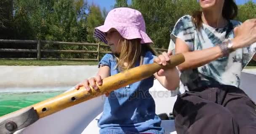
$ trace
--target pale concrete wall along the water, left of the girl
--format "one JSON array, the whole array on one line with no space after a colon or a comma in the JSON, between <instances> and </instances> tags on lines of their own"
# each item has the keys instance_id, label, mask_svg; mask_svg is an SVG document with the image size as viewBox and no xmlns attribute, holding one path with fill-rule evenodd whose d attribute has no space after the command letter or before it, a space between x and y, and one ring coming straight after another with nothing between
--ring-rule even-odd
<instances>
[{"instance_id":1,"label":"pale concrete wall along the water, left of the girl","mask_svg":"<svg viewBox=\"0 0 256 134\"><path fill-rule=\"evenodd\" d=\"M74 86L93 77L97 66L0 66L0 88Z\"/></svg>"}]
</instances>

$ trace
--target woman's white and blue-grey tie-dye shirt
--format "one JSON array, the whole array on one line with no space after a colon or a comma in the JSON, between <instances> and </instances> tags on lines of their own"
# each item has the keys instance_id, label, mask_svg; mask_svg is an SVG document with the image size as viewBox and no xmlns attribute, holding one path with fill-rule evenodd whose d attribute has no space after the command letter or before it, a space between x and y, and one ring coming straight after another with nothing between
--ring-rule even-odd
<instances>
[{"instance_id":1,"label":"woman's white and blue-grey tie-dye shirt","mask_svg":"<svg viewBox=\"0 0 256 134\"><path fill-rule=\"evenodd\" d=\"M177 21L172 33L169 49L175 49L175 40L185 41L189 51L207 49L234 38L233 29L239 26L239 21L230 20L223 28L213 28L203 24L200 32L195 28L190 15L185 15ZM214 84L233 85L239 87L240 73L252 59L256 51L256 43L243 49L237 49L227 57L221 57L197 67L181 72L181 82L189 90Z\"/></svg>"}]
</instances>

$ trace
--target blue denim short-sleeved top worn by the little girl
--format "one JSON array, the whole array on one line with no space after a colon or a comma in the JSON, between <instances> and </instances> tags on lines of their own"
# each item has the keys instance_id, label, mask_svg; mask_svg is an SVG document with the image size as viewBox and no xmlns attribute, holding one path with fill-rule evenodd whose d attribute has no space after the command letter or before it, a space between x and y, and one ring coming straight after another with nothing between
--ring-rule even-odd
<instances>
[{"instance_id":1,"label":"blue denim short-sleeved top worn by the little girl","mask_svg":"<svg viewBox=\"0 0 256 134\"><path fill-rule=\"evenodd\" d=\"M153 63L154 55L146 52L143 64ZM110 76L119 73L113 54L106 54L99 66L110 67ZM136 63L139 66L139 61ZM100 134L164 134L161 120L155 114L155 101L149 93L154 77L135 82L109 93L98 121Z\"/></svg>"}]
</instances>

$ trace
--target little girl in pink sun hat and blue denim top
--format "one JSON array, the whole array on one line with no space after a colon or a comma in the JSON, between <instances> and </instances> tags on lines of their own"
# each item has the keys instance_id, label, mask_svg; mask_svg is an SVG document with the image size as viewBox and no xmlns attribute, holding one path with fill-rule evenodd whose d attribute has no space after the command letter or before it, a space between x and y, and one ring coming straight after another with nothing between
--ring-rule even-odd
<instances>
[{"instance_id":1,"label":"little girl in pink sun hat and blue denim top","mask_svg":"<svg viewBox=\"0 0 256 134\"><path fill-rule=\"evenodd\" d=\"M141 64L157 62L166 65L169 54L155 57L151 39L147 36L144 18L138 10L115 8L111 10L103 26L95 28L94 36L111 48L99 62L96 77L86 79L76 89L89 85L98 90L102 79ZM179 86L176 67L160 70L154 76L112 91L107 96L104 111L98 121L100 134L164 134L161 120L155 114L155 101L149 94L154 77L168 90Z\"/></svg>"}]
</instances>

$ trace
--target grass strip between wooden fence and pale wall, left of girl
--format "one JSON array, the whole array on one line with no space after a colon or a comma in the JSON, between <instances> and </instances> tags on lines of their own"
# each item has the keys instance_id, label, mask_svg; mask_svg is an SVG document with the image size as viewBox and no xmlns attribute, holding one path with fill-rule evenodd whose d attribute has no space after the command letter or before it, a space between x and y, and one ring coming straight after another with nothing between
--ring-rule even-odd
<instances>
[{"instance_id":1,"label":"grass strip between wooden fence and pale wall, left of girl","mask_svg":"<svg viewBox=\"0 0 256 134\"><path fill-rule=\"evenodd\" d=\"M50 61L50 60L6 60L1 59L0 65L7 66L61 66L61 65L97 65L91 61Z\"/></svg>"}]
</instances>

